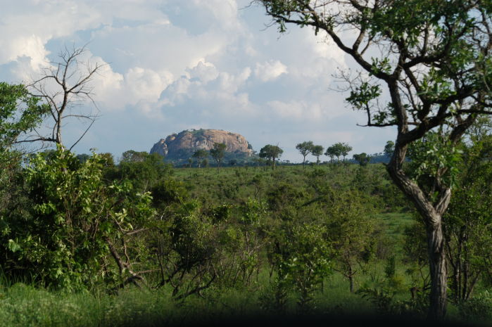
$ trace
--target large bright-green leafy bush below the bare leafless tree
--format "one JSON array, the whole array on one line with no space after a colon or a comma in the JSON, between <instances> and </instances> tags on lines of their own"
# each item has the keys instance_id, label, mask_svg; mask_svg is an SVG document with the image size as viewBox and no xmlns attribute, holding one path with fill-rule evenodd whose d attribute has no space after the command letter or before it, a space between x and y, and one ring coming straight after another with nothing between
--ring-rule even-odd
<instances>
[{"instance_id":1,"label":"large bright-green leafy bush below the bare leafless tree","mask_svg":"<svg viewBox=\"0 0 492 327\"><path fill-rule=\"evenodd\" d=\"M94 153L81 163L62 148L32 158L26 174L30 214L2 219L4 269L53 288L113 278L114 269L104 263L106 240L145 224L153 211L149 194L134 193L130 183L104 184L105 162Z\"/></svg>"}]
</instances>

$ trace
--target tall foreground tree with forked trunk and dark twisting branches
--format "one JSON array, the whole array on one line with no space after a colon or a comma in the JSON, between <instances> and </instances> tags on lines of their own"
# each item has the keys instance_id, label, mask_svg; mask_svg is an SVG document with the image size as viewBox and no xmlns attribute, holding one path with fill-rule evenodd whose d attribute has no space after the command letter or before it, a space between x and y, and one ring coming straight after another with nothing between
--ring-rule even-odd
<instances>
[{"instance_id":1,"label":"tall foreground tree with forked trunk and dark twisting branches","mask_svg":"<svg viewBox=\"0 0 492 327\"><path fill-rule=\"evenodd\" d=\"M426 224L429 317L442 318L447 304L442 217L451 196L453 179L446 177L454 171L452 156L439 157L439 151L434 152L429 177L434 183L429 190L405 174L403 163L408 146L432 130L445 130L443 144L453 148L477 115L492 114L491 1L260 3L281 32L286 23L311 26L353 58L361 71L351 80L346 100L366 113L366 126L396 127L395 150L386 168ZM346 73L343 76L351 79Z\"/></svg>"}]
</instances>

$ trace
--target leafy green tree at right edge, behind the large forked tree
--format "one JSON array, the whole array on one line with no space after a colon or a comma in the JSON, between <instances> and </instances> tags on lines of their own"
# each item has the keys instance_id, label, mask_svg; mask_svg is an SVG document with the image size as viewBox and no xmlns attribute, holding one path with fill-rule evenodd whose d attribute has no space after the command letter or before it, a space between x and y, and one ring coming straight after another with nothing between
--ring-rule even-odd
<instances>
[{"instance_id":1,"label":"leafy green tree at right edge, behind the large forked tree","mask_svg":"<svg viewBox=\"0 0 492 327\"><path fill-rule=\"evenodd\" d=\"M481 130L488 129L484 134ZM450 268L451 296L458 303L471 297L482 276L490 274L492 258L492 131L482 121L474 124L462 143L458 188L446 214L446 257ZM481 128L479 125L482 125ZM489 284L490 285L490 284Z\"/></svg>"}]
</instances>

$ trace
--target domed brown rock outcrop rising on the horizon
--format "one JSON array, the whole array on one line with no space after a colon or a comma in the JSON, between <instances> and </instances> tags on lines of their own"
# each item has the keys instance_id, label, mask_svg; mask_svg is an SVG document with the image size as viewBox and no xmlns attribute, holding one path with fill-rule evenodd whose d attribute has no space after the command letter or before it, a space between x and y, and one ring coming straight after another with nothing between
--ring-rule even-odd
<instances>
[{"instance_id":1,"label":"domed brown rock outcrop rising on the horizon","mask_svg":"<svg viewBox=\"0 0 492 327\"><path fill-rule=\"evenodd\" d=\"M191 129L171 134L154 144L150 153L158 153L170 160L183 159L198 149L210 150L214 143L225 143L229 153L248 157L253 154L244 136L219 129Z\"/></svg>"}]
</instances>

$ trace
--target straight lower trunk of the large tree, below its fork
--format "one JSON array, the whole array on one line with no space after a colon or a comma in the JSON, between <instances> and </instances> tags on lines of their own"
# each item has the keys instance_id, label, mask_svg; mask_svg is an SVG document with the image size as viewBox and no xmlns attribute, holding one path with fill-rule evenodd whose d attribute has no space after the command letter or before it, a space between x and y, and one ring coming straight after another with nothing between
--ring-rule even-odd
<instances>
[{"instance_id":1,"label":"straight lower trunk of the large tree, below its fork","mask_svg":"<svg viewBox=\"0 0 492 327\"><path fill-rule=\"evenodd\" d=\"M427 226L427 251L431 274L431 306L429 319L442 319L446 315L447 271L442 224Z\"/></svg>"}]
</instances>

